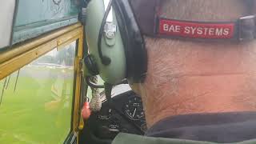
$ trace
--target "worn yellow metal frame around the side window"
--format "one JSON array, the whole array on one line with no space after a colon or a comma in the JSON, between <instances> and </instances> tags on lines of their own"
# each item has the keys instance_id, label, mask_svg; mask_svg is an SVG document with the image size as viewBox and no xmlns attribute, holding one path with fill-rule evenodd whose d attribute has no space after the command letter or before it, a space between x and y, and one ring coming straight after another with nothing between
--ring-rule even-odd
<instances>
[{"instance_id":1,"label":"worn yellow metal frame around the side window","mask_svg":"<svg viewBox=\"0 0 256 144\"><path fill-rule=\"evenodd\" d=\"M74 25L65 26L58 30L51 31L50 33L43 34L38 38L33 38L12 46L6 51L0 51L0 80L2 80L8 75L14 73L16 70L20 70L23 66L26 66L35 59L50 52L50 50L54 50L55 48L57 48L57 50L61 50L65 46L76 41L76 55L74 60L74 95L70 134L74 134L77 139L79 127L80 129L83 127L80 114L83 34L83 26L78 22ZM67 134L67 137L70 134Z\"/></svg>"}]
</instances>

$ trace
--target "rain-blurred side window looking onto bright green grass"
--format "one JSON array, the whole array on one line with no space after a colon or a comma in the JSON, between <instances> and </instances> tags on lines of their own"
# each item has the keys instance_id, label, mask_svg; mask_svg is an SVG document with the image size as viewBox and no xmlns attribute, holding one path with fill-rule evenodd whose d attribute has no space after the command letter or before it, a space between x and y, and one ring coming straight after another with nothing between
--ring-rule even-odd
<instances>
[{"instance_id":1,"label":"rain-blurred side window looking onto bright green grass","mask_svg":"<svg viewBox=\"0 0 256 144\"><path fill-rule=\"evenodd\" d=\"M70 133L76 42L0 81L1 143L62 143Z\"/></svg>"}]
</instances>

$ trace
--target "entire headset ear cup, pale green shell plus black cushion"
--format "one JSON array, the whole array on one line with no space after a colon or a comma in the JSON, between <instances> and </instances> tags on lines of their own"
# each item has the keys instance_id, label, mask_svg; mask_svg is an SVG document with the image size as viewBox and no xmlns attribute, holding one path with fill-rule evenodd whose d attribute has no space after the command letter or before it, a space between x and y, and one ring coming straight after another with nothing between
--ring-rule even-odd
<instances>
[{"instance_id":1,"label":"entire headset ear cup, pale green shell plus black cushion","mask_svg":"<svg viewBox=\"0 0 256 144\"><path fill-rule=\"evenodd\" d=\"M129 18L127 18L129 17ZM86 7L86 75L99 74L112 85L127 78L142 82L146 74L146 49L127 1L90 0Z\"/></svg>"}]
</instances>

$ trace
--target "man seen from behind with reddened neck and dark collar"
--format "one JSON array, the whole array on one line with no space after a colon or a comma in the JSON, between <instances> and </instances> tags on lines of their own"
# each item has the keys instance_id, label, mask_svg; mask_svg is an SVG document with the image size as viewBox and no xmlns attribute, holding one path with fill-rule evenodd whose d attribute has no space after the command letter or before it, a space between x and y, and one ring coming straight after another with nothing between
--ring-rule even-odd
<instances>
[{"instance_id":1,"label":"man seen from behind with reddened neck and dark collar","mask_svg":"<svg viewBox=\"0 0 256 144\"><path fill-rule=\"evenodd\" d=\"M222 22L255 14L253 3L162 0L159 13L166 21L160 22L160 31L166 36L186 34L201 40L144 37L146 79L132 87L142 96L146 137L119 134L113 143L243 142L256 138L256 41L202 40L234 33ZM171 24L171 19L180 23ZM182 25L187 21L220 25Z\"/></svg>"}]
</instances>

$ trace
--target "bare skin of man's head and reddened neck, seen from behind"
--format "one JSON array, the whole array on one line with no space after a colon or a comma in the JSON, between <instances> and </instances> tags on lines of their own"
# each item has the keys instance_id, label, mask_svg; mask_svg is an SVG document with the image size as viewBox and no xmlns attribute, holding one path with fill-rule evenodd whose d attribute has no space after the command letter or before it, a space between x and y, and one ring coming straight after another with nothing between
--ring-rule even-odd
<instances>
[{"instance_id":1,"label":"bare skin of man's head and reddened neck, seen from behind","mask_svg":"<svg viewBox=\"0 0 256 144\"><path fill-rule=\"evenodd\" d=\"M255 14L253 6L250 0L162 0L159 13L180 21L236 22ZM142 95L149 126L178 114L256 110L256 41L144 38L146 80L133 88Z\"/></svg>"}]
</instances>

